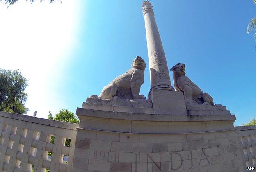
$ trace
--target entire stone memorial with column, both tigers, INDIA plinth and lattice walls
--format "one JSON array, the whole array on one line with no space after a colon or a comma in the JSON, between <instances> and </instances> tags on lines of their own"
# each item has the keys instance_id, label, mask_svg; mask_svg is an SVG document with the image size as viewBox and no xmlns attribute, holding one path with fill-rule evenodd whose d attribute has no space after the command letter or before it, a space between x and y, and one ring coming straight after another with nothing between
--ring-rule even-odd
<instances>
[{"instance_id":1,"label":"entire stone memorial with column, both tigers, INDIA plinth and lattice walls","mask_svg":"<svg viewBox=\"0 0 256 172\"><path fill-rule=\"evenodd\" d=\"M235 115L186 76L185 64L168 68L149 1L142 13L149 64L131 58L130 69L77 108L80 124L0 112L0 171L245 172L256 166L256 126L234 127ZM147 67L151 88L144 96Z\"/></svg>"}]
</instances>

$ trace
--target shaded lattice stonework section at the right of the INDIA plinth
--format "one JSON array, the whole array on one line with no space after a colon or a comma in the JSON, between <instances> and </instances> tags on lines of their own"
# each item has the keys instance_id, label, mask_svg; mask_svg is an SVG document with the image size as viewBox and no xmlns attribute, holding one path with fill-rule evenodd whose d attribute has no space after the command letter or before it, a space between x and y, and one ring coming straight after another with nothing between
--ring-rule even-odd
<instances>
[{"instance_id":1,"label":"shaded lattice stonework section at the right of the INDIA plinth","mask_svg":"<svg viewBox=\"0 0 256 172\"><path fill-rule=\"evenodd\" d=\"M242 142L247 167L256 167L256 126L235 127Z\"/></svg>"}]
</instances>

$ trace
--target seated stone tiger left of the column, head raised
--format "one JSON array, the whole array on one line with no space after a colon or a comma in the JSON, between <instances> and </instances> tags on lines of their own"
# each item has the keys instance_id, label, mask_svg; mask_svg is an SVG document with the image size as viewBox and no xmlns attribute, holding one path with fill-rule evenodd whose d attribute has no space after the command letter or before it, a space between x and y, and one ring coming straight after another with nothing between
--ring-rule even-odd
<instances>
[{"instance_id":1,"label":"seated stone tiger left of the column, head raised","mask_svg":"<svg viewBox=\"0 0 256 172\"><path fill-rule=\"evenodd\" d=\"M139 95L140 87L144 83L145 68L145 61L137 56L133 60L131 69L105 86L99 96L91 95L90 97L101 99L146 99L144 95Z\"/></svg>"}]
</instances>

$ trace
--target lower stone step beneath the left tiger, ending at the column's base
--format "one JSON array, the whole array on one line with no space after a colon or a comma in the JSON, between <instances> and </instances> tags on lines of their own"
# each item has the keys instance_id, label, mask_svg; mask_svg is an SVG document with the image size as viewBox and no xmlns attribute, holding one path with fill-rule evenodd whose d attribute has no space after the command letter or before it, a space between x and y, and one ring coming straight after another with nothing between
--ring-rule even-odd
<instances>
[{"instance_id":1,"label":"lower stone step beneath the left tiger, ending at the column's base","mask_svg":"<svg viewBox=\"0 0 256 172\"><path fill-rule=\"evenodd\" d=\"M142 107L131 107L131 106L114 106L107 104L95 104L84 102L82 108L101 110L101 111L112 111L112 112L130 112L130 113L146 113L152 114L153 108L142 108Z\"/></svg>"}]
</instances>

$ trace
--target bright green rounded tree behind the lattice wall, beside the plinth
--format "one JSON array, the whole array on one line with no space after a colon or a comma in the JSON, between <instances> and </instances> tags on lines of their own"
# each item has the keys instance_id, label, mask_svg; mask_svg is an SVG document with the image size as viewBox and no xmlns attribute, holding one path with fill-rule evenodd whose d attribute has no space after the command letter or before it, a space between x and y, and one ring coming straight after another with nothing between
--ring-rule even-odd
<instances>
[{"instance_id":1,"label":"bright green rounded tree behind the lattice wall, beside the plinth","mask_svg":"<svg viewBox=\"0 0 256 172\"><path fill-rule=\"evenodd\" d=\"M62 109L61 111L59 111L59 113L56 113L55 117L53 117L52 113L49 111L48 120L57 120L77 124L79 123L79 120L76 117L76 115L67 109ZM50 143L54 143L54 138L55 136L51 137ZM70 139L66 139L65 146L70 146ZM48 156L52 156L52 152L49 152Z\"/></svg>"}]
</instances>

